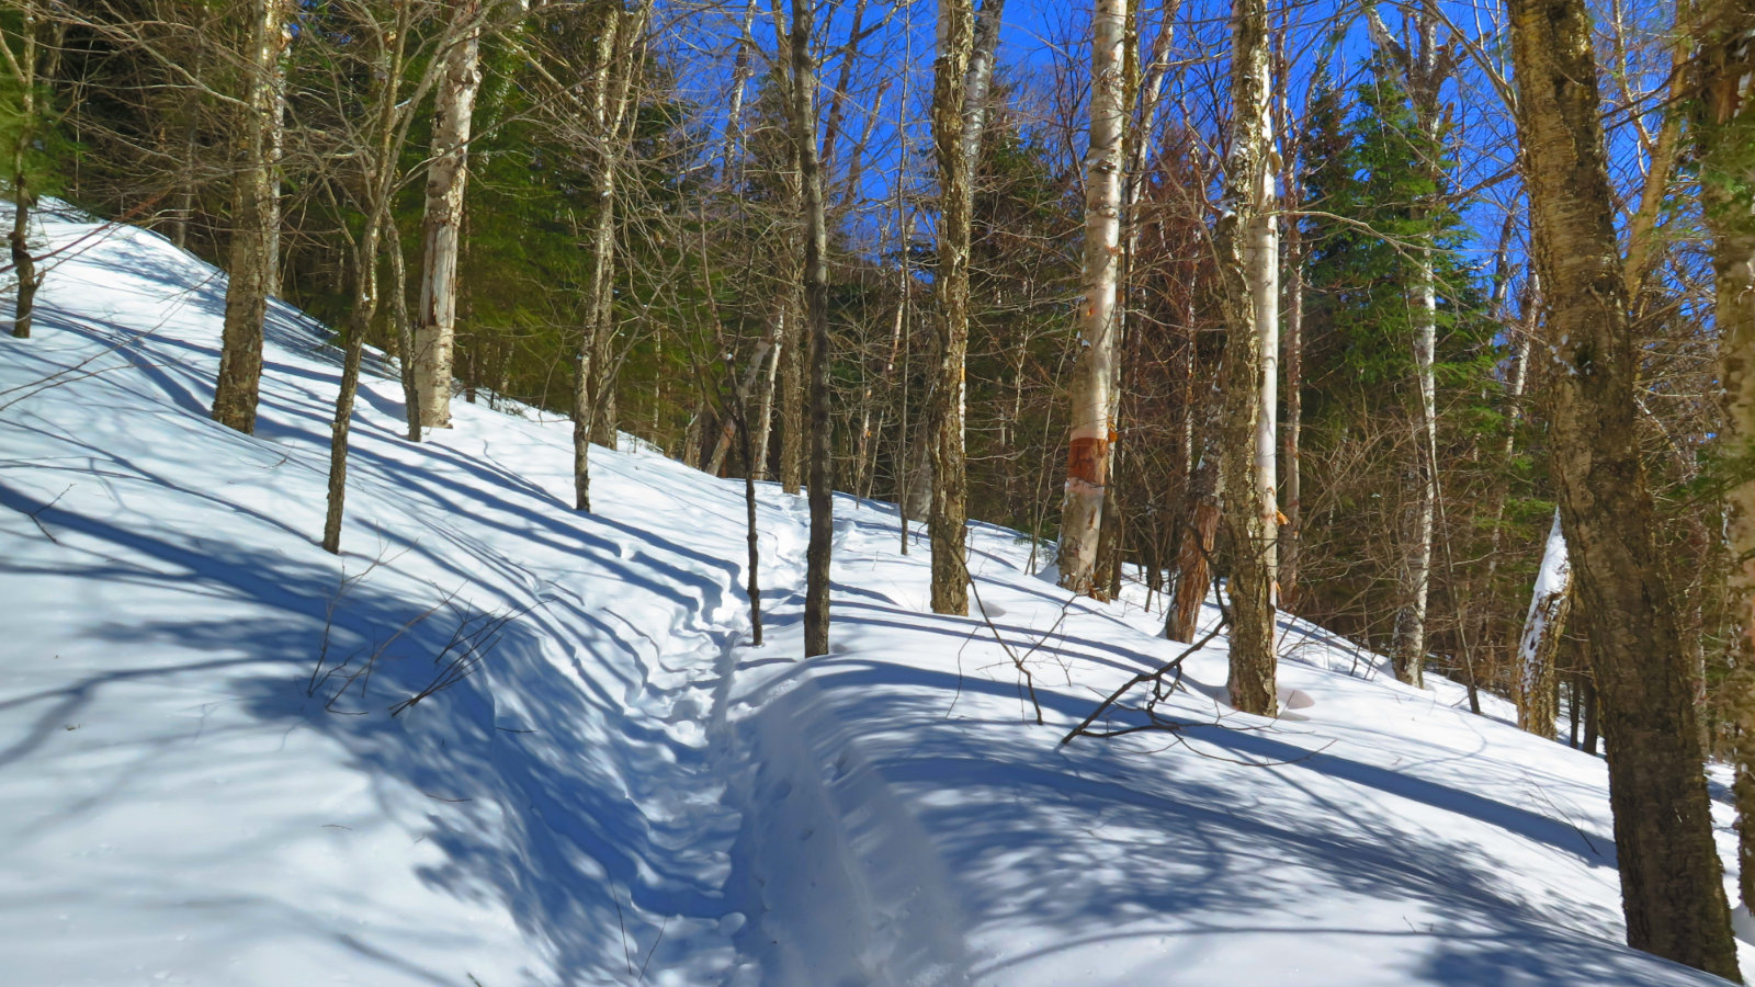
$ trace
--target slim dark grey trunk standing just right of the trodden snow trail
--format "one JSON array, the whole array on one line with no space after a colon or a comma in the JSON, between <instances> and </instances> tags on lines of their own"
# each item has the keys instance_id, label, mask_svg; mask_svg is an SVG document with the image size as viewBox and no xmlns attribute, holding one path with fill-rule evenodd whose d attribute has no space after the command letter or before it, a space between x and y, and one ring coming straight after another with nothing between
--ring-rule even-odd
<instances>
[{"instance_id":1,"label":"slim dark grey trunk standing just right of the trodden snow trail","mask_svg":"<svg viewBox=\"0 0 1755 987\"><path fill-rule=\"evenodd\" d=\"M792 2L792 128L804 191L804 311L811 339L811 543L806 548L804 657L828 653L828 569L834 550L834 462L828 421L828 218L816 158L816 68L811 0Z\"/></svg>"}]
</instances>

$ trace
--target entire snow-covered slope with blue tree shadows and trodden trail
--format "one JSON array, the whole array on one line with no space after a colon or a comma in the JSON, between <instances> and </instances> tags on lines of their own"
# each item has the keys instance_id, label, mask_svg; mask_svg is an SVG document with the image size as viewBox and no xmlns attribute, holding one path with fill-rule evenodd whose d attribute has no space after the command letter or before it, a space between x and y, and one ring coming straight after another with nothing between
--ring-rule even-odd
<instances>
[{"instance_id":1,"label":"entire snow-covered slope with blue tree shadows and trodden trail","mask_svg":"<svg viewBox=\"0 0 1755 987\"><path fill-rule=\"evenodd\" d=\"M593 450L577 515L563 421L458 402L414 446L377 365L333 558L323 332L272 309L233 434L223 277L44 232L0 341L7 983L1713 982L1618 945L1601 760L1313 627L1278 722L1216 702L1220 638L1183 731L1060 746L1178 646L1002 529L986 618L934 616L925 544L837 499L802 662L806 509L763 488L748 648L741 485Z\"/></svg>"}]
</instances>

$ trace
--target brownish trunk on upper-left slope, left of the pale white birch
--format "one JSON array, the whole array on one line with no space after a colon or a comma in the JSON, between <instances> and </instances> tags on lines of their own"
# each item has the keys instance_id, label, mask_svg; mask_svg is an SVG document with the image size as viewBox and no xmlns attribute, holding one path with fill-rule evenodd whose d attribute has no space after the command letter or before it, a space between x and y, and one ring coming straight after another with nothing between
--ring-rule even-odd
<instances>
[{"instance_id":1,"label":"brownish trunk on upper-left slope, left of the pale white birch","mask_svg":"<svg viewBox=\"0 0 1755 987\"><path fill-rule=\"evenodd\" d=\"M286 0L260 0L251 11L249 65L244 107L233 137L237 177L232 181L232 258L226 265L225 328L212 418L244 434L256 430L256 393L261 390L261 323L269 313L269 223L279 211L269 148L277 126L274 76L281 61Z\"/></svg>"}]
</instances>

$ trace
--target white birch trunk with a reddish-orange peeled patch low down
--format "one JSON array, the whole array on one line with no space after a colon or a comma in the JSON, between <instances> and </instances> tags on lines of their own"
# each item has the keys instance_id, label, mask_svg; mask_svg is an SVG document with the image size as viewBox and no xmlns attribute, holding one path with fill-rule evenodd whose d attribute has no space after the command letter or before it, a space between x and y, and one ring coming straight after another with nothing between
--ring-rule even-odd
<instances>
[{"instance_id":1,"label":"white birch trunk with a reddish-orange peeled patch low down","mask_svg":"<svg viewBox=\"0 0 1755 987\"><path fill-rule=\"evenodd\" d=\"M1095 576L1102 502L1109 485L1114 385L1116 286L1121 246L1121 179L1127 125L1123 39L1127 0L1092 7L1092 121L1085 155L1085 300L1079 306L1079 357L1072 371L1072 441L1060 515L1060 585L1090 594Z\"/></svg>"}]
</instances>

